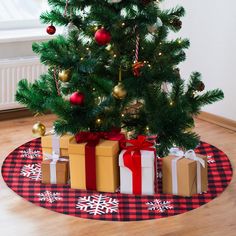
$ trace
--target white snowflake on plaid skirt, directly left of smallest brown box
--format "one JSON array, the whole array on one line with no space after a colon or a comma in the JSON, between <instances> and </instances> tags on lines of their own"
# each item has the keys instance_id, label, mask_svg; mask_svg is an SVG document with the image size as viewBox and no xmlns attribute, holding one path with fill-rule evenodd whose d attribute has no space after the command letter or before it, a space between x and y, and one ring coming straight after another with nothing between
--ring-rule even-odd
<instances>
[{"instance_id":1,"label":"white snowflake on plaid skirt, directly left of smallest brown box","mask_svg":"<svg viewBox=\"0 0 236 236\"><path fill-rule=\"evenodd\" d=\"M27 164L21 168L20 175L39 181L42 179L42 171L40 164Z\"/></svg>"}]
</instances>

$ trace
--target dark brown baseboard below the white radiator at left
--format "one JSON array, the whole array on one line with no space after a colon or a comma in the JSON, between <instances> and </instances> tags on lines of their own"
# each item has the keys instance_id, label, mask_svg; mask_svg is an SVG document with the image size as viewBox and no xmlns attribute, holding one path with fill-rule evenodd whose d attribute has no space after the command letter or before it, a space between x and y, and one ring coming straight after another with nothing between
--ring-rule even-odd
<instances>
[{"instance_id":1,"label":"dark brown baseboard below the white radiator at left","mask_svg":"<svg viewBox=\"0 0 236 236\"><path fill-rule=\"evenodd\" d=\"M0 121L33 116L27 108L15 108L0 111Z\"/></svg>"}]
</instances>

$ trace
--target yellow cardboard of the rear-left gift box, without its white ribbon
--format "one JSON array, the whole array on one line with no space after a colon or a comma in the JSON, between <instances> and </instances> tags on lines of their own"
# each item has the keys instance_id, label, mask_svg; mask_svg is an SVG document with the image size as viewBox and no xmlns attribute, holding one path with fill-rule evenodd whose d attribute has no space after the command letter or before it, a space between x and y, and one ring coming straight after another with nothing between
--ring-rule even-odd
<instances>
[{"instance_id":1,"label":"yellow cardboard of the rear-left gift box, without its white ribbon","mask_svg":"<svg viewBox=\"0 0 236 236\"><path fill-rule=\"evenodd\" d=\"M60 137L60 153L59 156L68 157L69 142L73 138L73 135L65 134ZM53 135L46 135L41 138L43 159L47 159L45 153L52 154L52 139Z\"/></svg>"}]
</instances>

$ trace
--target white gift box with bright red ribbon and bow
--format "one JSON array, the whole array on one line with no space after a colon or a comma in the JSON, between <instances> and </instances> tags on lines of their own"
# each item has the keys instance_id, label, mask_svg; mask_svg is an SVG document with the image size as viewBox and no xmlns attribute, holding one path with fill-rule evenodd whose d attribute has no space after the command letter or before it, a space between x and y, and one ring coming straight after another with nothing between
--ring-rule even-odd
<instances>
[{"instance_id":1,"label":"white gift box with bright red ribbon and bow","mask_svg":"<svg viewBox=\"0 0 236 236\"><path fill-rule=\"evenodd\" d=\"M127 140L131 144L119 155L120 192L153 195L156 185L156 152L145 136Z\"/></svg>"}]
</instances>

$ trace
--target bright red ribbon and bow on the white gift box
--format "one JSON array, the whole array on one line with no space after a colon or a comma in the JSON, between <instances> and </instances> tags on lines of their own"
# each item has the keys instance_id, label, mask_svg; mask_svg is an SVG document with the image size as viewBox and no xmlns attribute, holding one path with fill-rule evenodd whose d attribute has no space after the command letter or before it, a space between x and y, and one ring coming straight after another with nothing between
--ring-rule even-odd
<instances>
[{"instance_id":1,"label":"bright red ribbon and bow on the white gift box","mask_svg":"<svg viewBox=\"0 0 236 236\"><path fill-rule=\"evenodd\" d=\"M146 136L140 135L136 140L126 140L132 146L125 148L123 155L124 165L132 171L133 193L142 193L142 161L141 150L154 151L153 143L147 141ZM133 153L132 153L133 152Z\"/></svg>"}]
</instances>

